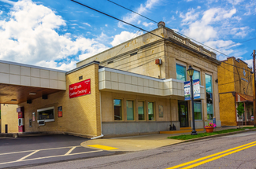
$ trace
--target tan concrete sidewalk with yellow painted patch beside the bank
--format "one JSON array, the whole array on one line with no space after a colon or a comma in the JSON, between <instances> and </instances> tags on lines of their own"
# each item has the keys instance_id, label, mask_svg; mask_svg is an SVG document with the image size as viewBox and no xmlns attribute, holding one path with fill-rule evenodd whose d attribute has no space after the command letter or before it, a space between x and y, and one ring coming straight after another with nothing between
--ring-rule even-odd
<instances>
[{"instance_id":1,"label":"tan concrete sidewalk with yellow painted patch beside the bank","mask_svg":"<svg viewBox=\"0 0 256 169\"><path fill-rule=\"evenodd\" d=\"M214 129L217 130L227 130L235 129L237 127L220 127ZM205 131L199 131L198 133L204 133ZM149 135L139 135L139 136L130 136L122 138L102 138L95 140L88 140L81 143L83 147L90 147L94 149L104 149L107 151L140 151L146 149L156 149L166 145L174 145L182 140L169 139L170 136L190 134L180 133L180 134L149 134Z\"/></svg>"}]
</instances>

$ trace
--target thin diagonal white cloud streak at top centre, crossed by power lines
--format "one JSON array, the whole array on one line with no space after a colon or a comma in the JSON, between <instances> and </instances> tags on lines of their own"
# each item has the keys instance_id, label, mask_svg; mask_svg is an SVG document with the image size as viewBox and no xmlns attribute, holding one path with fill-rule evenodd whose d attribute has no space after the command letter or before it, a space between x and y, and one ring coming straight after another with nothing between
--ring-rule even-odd
<instances>
[{"instance_id":1,"label":"thin diagonal white cloud streak at top centre, crossed by power lines","mask_svg":"<svg viewBox=\"0 0 256 169\"><path fill-rule=\"evenodd\" d=\"M147 0L147 2L145 2L144 5L141 4L139 8L135 10L135 12L140 14L147 13L154 6L157 6L160 1L161 0ZM128 13L128 15L123 17L123 20L130 24L133 24L139 18L139 15L136 13ZM124 24L122 22L118 22L118 27L124 28Z\"/></svg>"}]
</instances>

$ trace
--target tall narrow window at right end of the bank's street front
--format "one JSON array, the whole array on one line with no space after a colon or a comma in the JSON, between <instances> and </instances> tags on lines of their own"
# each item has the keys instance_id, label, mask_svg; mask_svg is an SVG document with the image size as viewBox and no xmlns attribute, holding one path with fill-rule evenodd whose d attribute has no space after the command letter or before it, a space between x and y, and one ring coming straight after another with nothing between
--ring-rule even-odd
<instances>
[{"instance_id":1,"label":"tall narrow window at right end of the bank's street front","mask_svg":"<svg viewBox=\"0 0 256 169\"><path fill-rule=\"evenodd\" d=\"M213 83L211 75L206 75L206 103L207 119L213 119Z\"/></svg>"}]
</instances>

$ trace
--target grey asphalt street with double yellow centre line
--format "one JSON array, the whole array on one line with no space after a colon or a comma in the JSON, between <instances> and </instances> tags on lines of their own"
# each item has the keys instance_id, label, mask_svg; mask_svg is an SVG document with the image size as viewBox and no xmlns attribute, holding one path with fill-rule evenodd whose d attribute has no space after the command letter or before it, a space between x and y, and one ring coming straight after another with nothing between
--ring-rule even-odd
<instances>
[{"instance_id":1,"label":"grey asphalt street with double yellow centre line","mask_svg":"<svg viewBox=\"0 0 256 169\"><path fill-rule=\"evenodd\" d=\"M256 168L256 132L29 168Z\"/></svg>"}]
</instances>

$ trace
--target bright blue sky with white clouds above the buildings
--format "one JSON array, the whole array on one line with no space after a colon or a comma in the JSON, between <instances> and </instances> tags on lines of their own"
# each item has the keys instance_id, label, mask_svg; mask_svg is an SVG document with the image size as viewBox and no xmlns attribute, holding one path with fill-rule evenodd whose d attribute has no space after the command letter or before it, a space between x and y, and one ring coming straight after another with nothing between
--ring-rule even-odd
<instances>
[{"instance_id":1,"label":"bright blue sky with white clouds above the buildings","mask_svg":"<svg viewBox=\"0 0 256 169\"><path fill-rule=\"evenodd\" d=\"M252 66L255 0L112 0L151 20L107 0L76 1L147 31L158 28L151 20L164 21L166 27L224 53L213 51L218 60L236 57ZM143 33L70 0L0 0L3 61L69 71L76 62Z\"/></svg>"}]
</instances>

